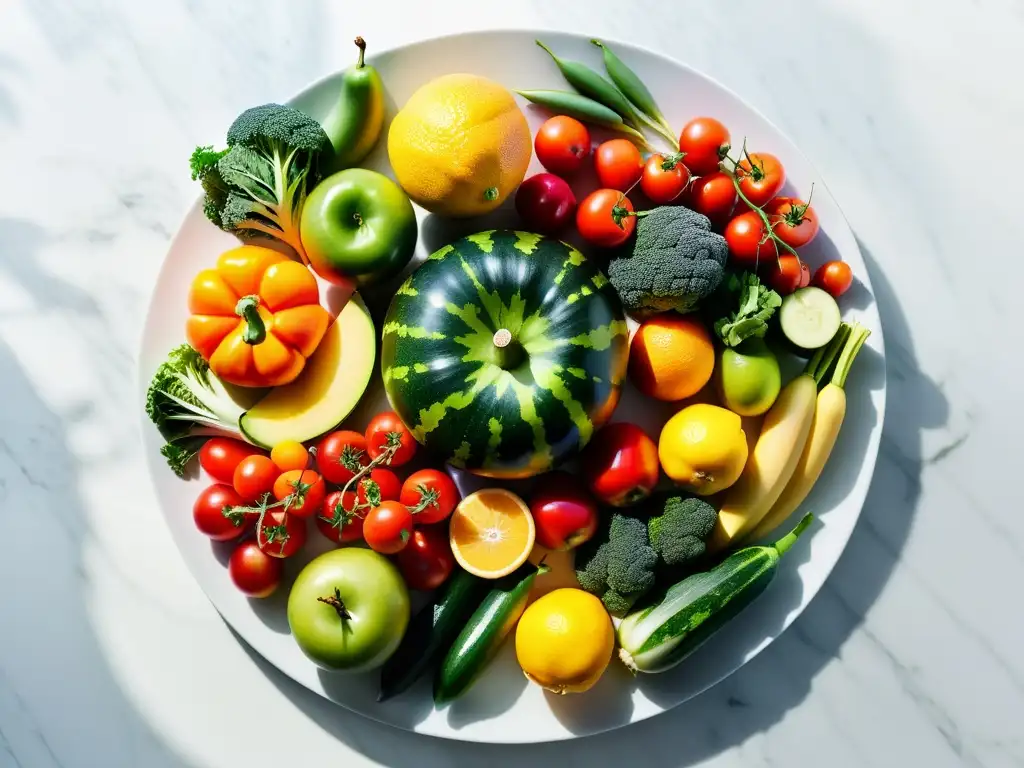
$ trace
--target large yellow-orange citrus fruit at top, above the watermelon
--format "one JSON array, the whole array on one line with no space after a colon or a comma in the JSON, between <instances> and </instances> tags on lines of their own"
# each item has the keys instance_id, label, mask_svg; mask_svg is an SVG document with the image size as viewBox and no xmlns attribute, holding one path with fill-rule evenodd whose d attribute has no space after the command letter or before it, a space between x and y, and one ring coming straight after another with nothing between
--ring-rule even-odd
<instances>
[{"instance_id":1,"label":"large yellow-orange citrus fruit at top, above the watermelon","mask_svg":"<svg viewBox=\"0 0 1024 768\"><path fill-rule=\"evenodd\" d=\"M387 152L410 198L441 216L479 216L519 185L529 126L512 94L475 75L445 75L395 115Z\"/></svg>"}]
</instances>

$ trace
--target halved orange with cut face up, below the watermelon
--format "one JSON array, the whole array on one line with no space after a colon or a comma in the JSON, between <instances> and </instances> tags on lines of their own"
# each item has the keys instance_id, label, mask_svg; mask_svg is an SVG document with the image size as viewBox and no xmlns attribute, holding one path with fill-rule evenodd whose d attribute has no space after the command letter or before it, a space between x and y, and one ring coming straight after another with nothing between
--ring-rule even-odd
<instances>
[{"instance_id":1,"label":"halved orange with cut face up, below the watermelon","mask_svg":"<svg viewBox=\"0 0 1024 768\"><path fill-rule=\"evenodd\" d=\"M481 579L499 579L522 565L534 548L534 516L515 494L484 488L452 513L449 540L459 564Z\"/></svg>"}]
</instances>

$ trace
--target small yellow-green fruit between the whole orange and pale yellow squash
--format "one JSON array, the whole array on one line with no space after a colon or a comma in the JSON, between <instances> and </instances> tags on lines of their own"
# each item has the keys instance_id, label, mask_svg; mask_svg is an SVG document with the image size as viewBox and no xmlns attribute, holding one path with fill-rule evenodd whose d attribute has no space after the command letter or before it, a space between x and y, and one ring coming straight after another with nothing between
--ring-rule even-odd
<instances>
[{"instance_id":1,"label":"small yellow-green fruit between the whole orange and pale yellow squash","mask_svg":"<svg viewBox=\"0 0 1024 768\"><path fill-rule=\"evenodd\" d=\"M715 378L722 404L740 416L765 413L782 386L778 359L757 337L719 352Z\"/></svg>"}]
</instances>

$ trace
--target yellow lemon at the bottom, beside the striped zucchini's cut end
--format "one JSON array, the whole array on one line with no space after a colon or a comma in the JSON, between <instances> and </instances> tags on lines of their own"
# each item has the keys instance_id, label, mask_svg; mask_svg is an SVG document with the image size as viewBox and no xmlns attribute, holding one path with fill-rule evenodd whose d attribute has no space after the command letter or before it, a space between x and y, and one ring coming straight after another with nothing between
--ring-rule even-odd
<instances>
[{"instance_id":1,"label":"yellow lemon at the bottom, beside the striped zucchini's cut end","mask_svg":"<svg viewBox=\"0 0 1024 768\"><path fill-rule=\"evenodd\" d=\"M611 660L615 633L601 601L559 589L534 602L519 620L515 654L523 674L555 693L582 693Z\"/></svg>"}]
</instances>

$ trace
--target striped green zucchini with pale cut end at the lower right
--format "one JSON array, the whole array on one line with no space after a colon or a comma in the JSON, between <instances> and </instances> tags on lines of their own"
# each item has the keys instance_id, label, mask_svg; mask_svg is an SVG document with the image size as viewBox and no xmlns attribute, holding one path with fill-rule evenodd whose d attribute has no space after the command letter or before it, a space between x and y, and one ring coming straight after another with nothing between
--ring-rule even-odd
<instances>
[{"instance_id":1,"label":"striped green zucchini with pale cut end at the lower right","mask_svg":"<svg viewBox=\"0 0 1024 768\"><path fill-rule=\"evenodd\" d=\"M664 672L682 662L771 584L779 558L814 515L767 547L746 547L711 570L664 590L618 625L618 657L633 672Z\"/></svg>"}]
</instances>

